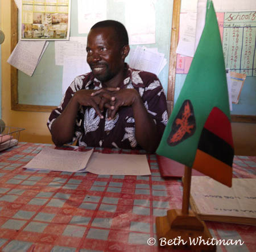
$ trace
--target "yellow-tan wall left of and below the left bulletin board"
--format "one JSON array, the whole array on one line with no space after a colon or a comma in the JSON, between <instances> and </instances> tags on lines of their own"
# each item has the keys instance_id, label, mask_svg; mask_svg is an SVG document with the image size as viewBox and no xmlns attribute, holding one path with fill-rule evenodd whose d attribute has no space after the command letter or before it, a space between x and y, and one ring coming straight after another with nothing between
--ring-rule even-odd
<instances>
[{"instance_id":1,"label":"yellow-tan wall left of and below the left bulletin board","mask_svg":"<svg viewBox=\"0 0 256 252\"><path fill-rule=\"evenodd\" d=\"M24 127L19 141L51 143L46 122L49 113L11 110L10 65L6 63L10 56L10 0L0 1L1 30L5 33L2 49L2 119L7 126Z\"/></svg>"}]
</instances>

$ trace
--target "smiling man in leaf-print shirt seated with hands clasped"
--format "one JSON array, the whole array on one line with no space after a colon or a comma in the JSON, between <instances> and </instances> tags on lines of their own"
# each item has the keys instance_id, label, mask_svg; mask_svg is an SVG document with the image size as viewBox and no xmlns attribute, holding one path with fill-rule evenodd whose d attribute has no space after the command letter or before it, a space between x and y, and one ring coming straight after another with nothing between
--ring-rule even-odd
<instances>
[{"instance_id":1,"label":"smiling man in leaf-print shirt seated with hands clasped","mask_svg":"<svg viewBox=\"0 0 256 252\"><path fill-rule=\"evenodd\" d=\"M92 72L75 78L49 116L52 141L154 152L167 123L166 96L153 73L125 63L126 28L114 20L94 24L86 51Z\"/></svg>"}]
</instances>

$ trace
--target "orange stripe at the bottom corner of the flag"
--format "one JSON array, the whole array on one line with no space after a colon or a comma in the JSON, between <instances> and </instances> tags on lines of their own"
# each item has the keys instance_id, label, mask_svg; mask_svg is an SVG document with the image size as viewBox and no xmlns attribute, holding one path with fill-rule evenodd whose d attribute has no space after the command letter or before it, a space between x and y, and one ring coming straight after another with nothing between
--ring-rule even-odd
<instances>
[{"instance_id":1,"label":"orange stripe at the bottom corner of the flag","mask_svg":"<svg viewBox=\"0 0 256 252\"><path fill-rule=\"evenodd\" d=\"M232 167L197 149L193 169L232 187Z\"/></svg>"}]
</instances>

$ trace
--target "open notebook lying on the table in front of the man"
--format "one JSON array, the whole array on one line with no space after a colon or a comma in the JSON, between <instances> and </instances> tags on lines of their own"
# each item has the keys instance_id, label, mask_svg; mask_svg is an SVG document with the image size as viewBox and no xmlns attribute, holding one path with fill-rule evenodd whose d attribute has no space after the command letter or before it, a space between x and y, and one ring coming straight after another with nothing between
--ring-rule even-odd
<instances>
[{"instance_id":1,"label":"open notebook lying on the table in front of the man","mask_svg":"<svg viewBox=\"0 0 256 252\"><path fill-rule=\"evenodd\" d=\"M146 155L102 154L44 147L23 168L31 170L92 172L98 175L150 175Z\"/></svg>"}]
</instances>

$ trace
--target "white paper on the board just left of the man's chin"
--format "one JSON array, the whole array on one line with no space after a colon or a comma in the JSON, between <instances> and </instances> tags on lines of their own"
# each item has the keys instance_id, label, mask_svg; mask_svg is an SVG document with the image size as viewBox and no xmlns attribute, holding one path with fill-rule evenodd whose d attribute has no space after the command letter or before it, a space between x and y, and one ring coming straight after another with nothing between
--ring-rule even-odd
<instances>
[{"instance_id":1,"label":"white paper on the board just left of the man's chin","mask_svg":"<svg viewBox=\"0 0 256 252\"><path fill-rule=\"evenodd\" d=\"M72 67L71 67L72 66ZM75 79L76 76L90 72L90 66L86 61L86 57L68 56L64 57L63 64L63 79L62 79L62 94L64 94Z\"/></svg>"}]
</instances>

